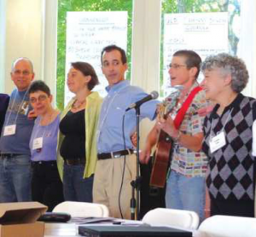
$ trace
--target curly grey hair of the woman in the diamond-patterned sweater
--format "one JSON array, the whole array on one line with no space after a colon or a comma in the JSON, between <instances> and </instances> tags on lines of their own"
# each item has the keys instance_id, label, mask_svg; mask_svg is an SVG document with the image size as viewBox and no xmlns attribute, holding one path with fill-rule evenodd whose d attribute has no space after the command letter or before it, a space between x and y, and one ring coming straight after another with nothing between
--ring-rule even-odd
<instances>
[{"instance_id":1,"label":"curly grey hair of the woman in the diamond-patterned sweater","mask_svg":"<svg viewBox=\"0 0 256 237\"><path fill-rule=\"evenodd\" d=\"M224 76L231 76L231 89L237 93L245 89L249 73L244 61L229 54L211 55L206 58L201 64L201 71L212 71L219 69Z\"/></svg>"}]
</instances>

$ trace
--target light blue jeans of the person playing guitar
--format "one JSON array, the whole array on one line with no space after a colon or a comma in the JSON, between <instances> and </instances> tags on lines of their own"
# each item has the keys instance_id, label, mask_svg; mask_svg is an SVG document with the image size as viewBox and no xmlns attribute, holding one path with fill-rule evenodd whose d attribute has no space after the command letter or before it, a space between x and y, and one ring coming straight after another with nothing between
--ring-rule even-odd
<instances>
[{"instance_id":1,"label":"light blue jeans of the person playing guitar","mask_svg":"<svg viewBox=\"0 0 256 237\"><path fill-rule=\"evenodd\" d=\"M166 183L166 207L195 211L200 221L205 217L206 180L205 177L186 177L171 171Z\"/></svg>"}]
</instances>

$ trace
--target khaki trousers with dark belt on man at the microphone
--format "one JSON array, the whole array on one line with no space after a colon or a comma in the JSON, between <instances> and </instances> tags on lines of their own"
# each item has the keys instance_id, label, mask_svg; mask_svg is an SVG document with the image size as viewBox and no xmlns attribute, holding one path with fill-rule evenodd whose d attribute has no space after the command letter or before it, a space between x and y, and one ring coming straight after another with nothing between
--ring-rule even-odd
<instances>
[{"instance_id":1,"label":"khaki trousers with dark belt on man at the microphone","mask_svg":"<svg viewBox=\"0 0 256 237\"><path fill-rule=\"evenodd\" d=\"M116 218L121 218L120 203L123 217L131 219L131 181L135 180L136 177L137 160L136 154L125 157L97 161L93 182L93 202L107 205L109 216ZM125 174L123 184L121 184L124 163Z\"/></svg>"}]
</instances>

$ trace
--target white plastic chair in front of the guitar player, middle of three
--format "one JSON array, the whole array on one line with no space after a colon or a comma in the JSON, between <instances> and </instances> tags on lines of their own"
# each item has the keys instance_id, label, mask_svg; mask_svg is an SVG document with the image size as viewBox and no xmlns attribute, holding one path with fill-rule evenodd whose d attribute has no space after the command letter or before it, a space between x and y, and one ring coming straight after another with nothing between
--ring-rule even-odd
<instances>
[{"instance_id":1,"label":"white plastic chair in front of the guitar player, middle of three","mask_svg":"<svg viewBox=\"0 0 256 237\"><path fill-rule=\"evenodd\" d=\"M199 217L195 211L156 208L146 213L143 217L143 223L196 229L199 224Z\"/></svg>"}]
</instances>

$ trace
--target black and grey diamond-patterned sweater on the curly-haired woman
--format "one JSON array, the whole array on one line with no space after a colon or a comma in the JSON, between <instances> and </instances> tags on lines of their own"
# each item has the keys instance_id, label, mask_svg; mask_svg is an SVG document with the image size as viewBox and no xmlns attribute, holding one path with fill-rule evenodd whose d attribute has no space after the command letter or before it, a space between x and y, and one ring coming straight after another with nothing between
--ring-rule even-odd
<instances>
[{"instance_id":1,"label":"black and grey diamond-patterned sweater on the curly-haired woman","mask_svg":"<svg viewBox=\"0 0 256 237\"><path fill-rule=\"evenodd\" d=\"M255 186L252 129L256 119L256 100L238 94L220 116L218 107L214 107L204 121L202 149L209 159L207 188L213 199L252 200ZM226 138L224 147L214 153L209 148L211 128L212 136L224 130Z\"/></svg>"}]
</instances>

